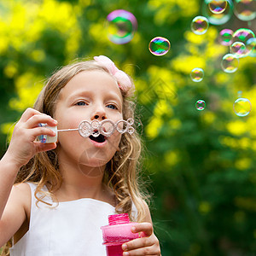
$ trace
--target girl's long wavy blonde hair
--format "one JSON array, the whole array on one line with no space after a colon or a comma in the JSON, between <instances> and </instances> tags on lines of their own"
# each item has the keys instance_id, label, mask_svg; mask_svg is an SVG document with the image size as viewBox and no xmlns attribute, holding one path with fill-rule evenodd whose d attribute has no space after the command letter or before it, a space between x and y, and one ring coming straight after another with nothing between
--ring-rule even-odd
<instances>
[{"instance_id":1,"label":"girl's long wavy blonde hair","mask_svg":"<svg viewBox=\"0 0 256 256\"><path fill-rule=\"evenodd\" d=\"M91 70L109 73L108 69L102 67L96 61L79 61L66 67L61 67L48 79L34 104L34 108L41 113L54 116L55 105L61 89L76 74ZM124 92L121 90L121 93L123 96L123 118L134 119L135 103L131 97L133 91ZM139 175L141 170L140 163L142 162L142 143L137 131L132 135L124 133L121 137L119 148L120 150L113 155L113 158L105 168L103 182L113 189L116 195L116 212L129 213L131 220L141 222L146 215L145 201L148 200L148 195L145 193L145 187L141 183ZM50 195L55 198L54 192L61 187L62 182L55 150L36 154L26 166L20 168L15 183L24 182L38 184L35 191L35 197L38 201L48 204L44 201L45 196ZM46 184L49 192L44 192L43 190ZM143 191L139 189L140 187L143 187ZM132 202L137 207L137 219L131 214ZM9 245L6 247L9 247ZM2 255L9 255L6 247L3 249Z\"/></svg>"}]
</instances>

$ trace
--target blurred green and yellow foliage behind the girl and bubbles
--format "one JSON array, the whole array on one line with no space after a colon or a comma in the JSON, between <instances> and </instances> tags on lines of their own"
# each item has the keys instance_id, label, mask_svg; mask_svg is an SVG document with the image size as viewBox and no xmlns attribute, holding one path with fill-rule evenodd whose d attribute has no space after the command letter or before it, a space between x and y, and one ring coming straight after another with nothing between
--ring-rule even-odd
<instances>
[{"instance_id":1,"label":"blurred green and yellow foliage behind the girl and bubbles","mask_svg":"<svg viewBox=\"0 0 256 256\"><path fill-rule=\"evenodd\" d=\"M220 67L229 47L224 28L255 32L231 15L204 35L190 30L202 15L199 0L0 1L0 153L20 114L32 107L44 81L75 58L107 55L133 77L138 130L147 148L144 177L151 180L151 212L162 255L256 254L256 119L233 111L237 92L256 105L256 58L240 59L236 73ZM138 28L128 44L108 40L106 17L130 11ZM254 10L255 11L255 10ZM155 56L154 37L171 49ZM205 71L200 83L189 73ZM203 99L207 108L198 111ZM82 237L79 239L83 240Z\"/></svg>"}]
</instances>

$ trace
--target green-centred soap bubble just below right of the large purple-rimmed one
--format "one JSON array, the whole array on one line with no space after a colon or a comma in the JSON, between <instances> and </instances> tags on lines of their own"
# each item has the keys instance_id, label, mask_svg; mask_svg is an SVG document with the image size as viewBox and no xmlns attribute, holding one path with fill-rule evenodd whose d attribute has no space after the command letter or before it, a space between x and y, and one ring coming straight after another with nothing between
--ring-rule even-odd
<instances>
[{"instance_id":1,"label":"green-centred soap bubble just below right of the large purple-rimmed one","mask_svg":"<svg viewBox=\"0 0 256 256\"><path fill-rule=\"evenodd\" d=\"M156 56L166 55L170 47L169 40L162 37L153 38L148 44L149 51Z\"/></svg>"}]
</instances>

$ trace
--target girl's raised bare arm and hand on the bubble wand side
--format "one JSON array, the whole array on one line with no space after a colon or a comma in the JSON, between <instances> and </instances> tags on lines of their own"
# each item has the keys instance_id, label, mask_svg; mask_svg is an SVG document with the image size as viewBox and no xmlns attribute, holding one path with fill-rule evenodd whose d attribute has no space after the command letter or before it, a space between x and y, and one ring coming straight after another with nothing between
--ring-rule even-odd
<instances>
[{"instance_id":1,"label":"girl's raised bare arm and hand on the bubble wand side","mask_svg":"<svg viewBox=\"0 0 256 256\"><path fill-rule=\"evenodd\" d=\"M20 167L26 165L38 152L56 147L55 143L44 144L35 141L42 134L55 136L53 131L38 127L38 123L56 125L55 120L48 115L32 108L26 109L15 125L7 152L0 160L0 247L26 220L24 195L27 195L27 185L13 187Z\"/></svg>"}]
</instances>

